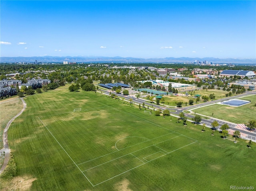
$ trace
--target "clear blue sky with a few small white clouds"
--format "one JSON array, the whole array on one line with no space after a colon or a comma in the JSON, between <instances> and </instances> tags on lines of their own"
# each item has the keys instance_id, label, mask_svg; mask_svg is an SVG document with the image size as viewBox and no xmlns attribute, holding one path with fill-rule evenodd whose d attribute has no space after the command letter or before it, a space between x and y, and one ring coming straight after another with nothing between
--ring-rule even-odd
<instances>
[{"instance_id":1,"label":"clear blue sky with a few small white clouds","mask_svg":"<svg viewBox=\"0 0 256 191\"><path fill-rule=\"evenodd\" d=\"M4 1L1 57L256 58L256 1Z\"/></svg>"}]
</instances>

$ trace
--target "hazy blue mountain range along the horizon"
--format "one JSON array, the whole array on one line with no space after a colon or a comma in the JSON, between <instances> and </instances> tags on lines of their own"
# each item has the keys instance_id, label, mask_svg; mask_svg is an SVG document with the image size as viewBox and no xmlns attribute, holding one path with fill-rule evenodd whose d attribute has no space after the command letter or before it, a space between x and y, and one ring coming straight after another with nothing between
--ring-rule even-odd
<instances>
[{"instance_id":1,"label":"hazy blue mountain range along the horizon","mask_svg":"<svg viewBox=\"0 0 256 191\"><path fill-rule=\"evenodd\" d=\"M189 58L189 57L166 57L166 58L134 58L134 57L53 57L53 56L44 56L44 57L0 57L1 63L9 62L30 62L34 63L35 60L42 63L54 63L54 62L84 62L84 63L193 63L198 60L200 62L207 61L209 63L232 63L232 64L255 64L256 59L244 59L244 58Z\"/></svg>"}]
</instances>

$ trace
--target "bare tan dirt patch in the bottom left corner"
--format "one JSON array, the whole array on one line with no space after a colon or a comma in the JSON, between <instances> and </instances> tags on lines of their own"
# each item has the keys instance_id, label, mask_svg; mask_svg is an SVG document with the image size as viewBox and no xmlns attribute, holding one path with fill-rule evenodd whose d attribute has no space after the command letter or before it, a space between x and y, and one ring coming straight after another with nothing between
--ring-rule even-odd
<instances>
[{"instance_id":1,"label":"bare tan dirt patch in the bottom left corner","mask_svg":"<svg viewBox=\"0 0 256 191\"><path fill-rule=\"evenodd\" d=\"M28 176L24 177L14 177L10 183L8 183L8 187L3 188L2 191L11 191L11 190L20 190L20 191L27 191L30 190L30 187L32 186L33 181L35 181L36 178L31 178Z\"/></svg>"}]
</instances>

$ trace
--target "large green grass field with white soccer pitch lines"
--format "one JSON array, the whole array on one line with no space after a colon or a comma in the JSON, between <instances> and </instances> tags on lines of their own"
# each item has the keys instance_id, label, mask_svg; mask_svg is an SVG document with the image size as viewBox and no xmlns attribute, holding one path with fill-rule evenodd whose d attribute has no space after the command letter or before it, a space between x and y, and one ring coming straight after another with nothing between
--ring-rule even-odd
<instances>
[{"instance_id":1,"label":"large green grass field with white soccer pitch lines","mask_svg":"<svg viewBox=\"0 0 256 191\"><path fill-rule=\"evenodd\" d=\"M24 98L8 137L29 190L228 190L256 187L256 144L222 140L201 126L68 86ZM74 108L82 108L73 112ZM1 190L14 189L1 177ZM10 186L12 185L12 186ZM22 183L19 182L20 187Z\"/></svg>"}]
</instances>

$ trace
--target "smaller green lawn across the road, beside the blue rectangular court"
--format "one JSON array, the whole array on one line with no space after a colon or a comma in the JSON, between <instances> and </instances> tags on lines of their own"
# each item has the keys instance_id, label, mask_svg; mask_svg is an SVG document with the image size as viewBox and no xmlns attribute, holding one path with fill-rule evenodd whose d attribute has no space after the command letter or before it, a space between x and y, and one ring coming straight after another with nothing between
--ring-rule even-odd
<instances>
[{"instance_id":1,"label":"smaller green lawn across the road, beside the blue rectangular court","mask_svg":"<svg viewBox=\"0 0 256 191\"><path fill-rule=\"evenodd\" d=\"M214 118L224 119L238 124L246 124L249 120L253 119L252 116L256 115L256 95L246 96L239 99L250 100L251 103L239 107L214 104L194 109L192 111L206 116L212 116L212 113L214 113Z\"/></svg>"}]
</instances>

